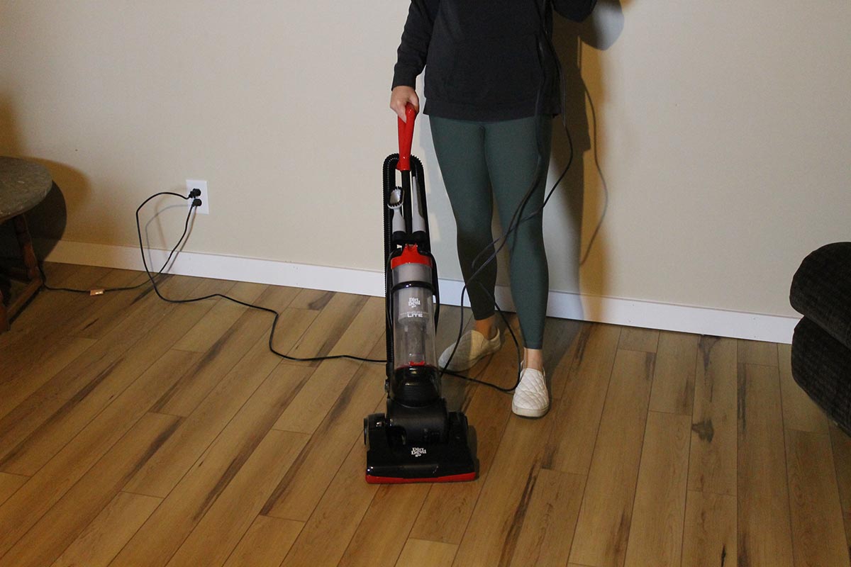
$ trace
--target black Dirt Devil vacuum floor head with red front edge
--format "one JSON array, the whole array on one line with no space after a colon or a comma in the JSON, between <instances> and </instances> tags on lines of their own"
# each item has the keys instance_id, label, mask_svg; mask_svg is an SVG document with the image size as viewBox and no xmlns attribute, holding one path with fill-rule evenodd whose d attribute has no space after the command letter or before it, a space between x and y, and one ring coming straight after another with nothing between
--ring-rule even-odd
<instances>
[{"instance_id":1,"label":"black Dirt Devil vacuum floor head with red front edge","mask_svg":"<svg viewBox=\"0 0 851 567\"><path fill-rule=\"evenodd\" d=\"M408 443L401 428L389 426L385 414L374 413L364 420L367 482L403 484L476 479L476 462L467 433L465 415L450 412L445 440Z\"/></svg>"}]
</instances>

